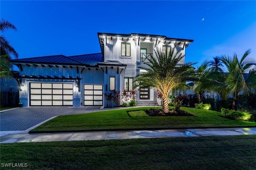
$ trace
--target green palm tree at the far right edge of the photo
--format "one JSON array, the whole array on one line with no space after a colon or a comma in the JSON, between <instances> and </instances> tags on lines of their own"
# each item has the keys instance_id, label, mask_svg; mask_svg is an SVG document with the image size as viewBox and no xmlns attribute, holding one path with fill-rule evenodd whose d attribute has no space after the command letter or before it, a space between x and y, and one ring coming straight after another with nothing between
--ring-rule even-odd
<instances>
[{"instance_id":1,"label":"green palm tree at the far right edge of the photo","mask_svg":"<svg viewBox=\"0 0 256 170\"><path fill-rule=\"evenodd\" d=\"M222 55L221 61L226 66L228 74L225 74L223 88L228 94L232 94L232 107L237 109L238 95L241 92L248 93L256 88L256 61L248 58L251 53L248 49L239 61L236 53L233 57ZM248 76L245 76L248 72Z\"/></svg>"}]
</instances>

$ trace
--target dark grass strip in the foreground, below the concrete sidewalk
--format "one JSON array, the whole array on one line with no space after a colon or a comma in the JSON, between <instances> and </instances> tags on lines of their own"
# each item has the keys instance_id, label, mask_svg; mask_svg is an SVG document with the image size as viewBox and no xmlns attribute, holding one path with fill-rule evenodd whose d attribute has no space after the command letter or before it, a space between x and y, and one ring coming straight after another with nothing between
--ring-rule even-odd
<instances>
[{"instance_id":1,"label":"dark grass strip in the foreground, below the concrete sidewalk","mask_svg":"<svg viewBox=\"0 0 256 170\"><path fill-rule=\"evenodd\" d=\"M253 170L255 153L256 135L238 135L2 143L0 156L24 169Z\"/></svg>"}]
</instances>

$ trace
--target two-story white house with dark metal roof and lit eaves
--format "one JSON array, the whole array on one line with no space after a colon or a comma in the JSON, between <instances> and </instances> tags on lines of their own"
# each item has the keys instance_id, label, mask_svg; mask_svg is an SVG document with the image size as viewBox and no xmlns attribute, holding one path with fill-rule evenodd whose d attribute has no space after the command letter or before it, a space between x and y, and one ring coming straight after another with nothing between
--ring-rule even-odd
<instances>
[{"instance_id":1,"label":"two-story white house with dark metal roof and lit eaves","mask_svg":"<svg viewBox=\"0 0 256 170\"><path fill-rule=\"evenodd\" d=\"M20 102L23 106L107 106L105 92L133 89L137 74L145 70L156 47L185 53L193 40L162 35L98 33L101 53L54 55L12 60L20 76ZM184 63L184 59L180 64ZM138 104L156 103L156 90L138 89Z\"/></svg>"}]
</instances>

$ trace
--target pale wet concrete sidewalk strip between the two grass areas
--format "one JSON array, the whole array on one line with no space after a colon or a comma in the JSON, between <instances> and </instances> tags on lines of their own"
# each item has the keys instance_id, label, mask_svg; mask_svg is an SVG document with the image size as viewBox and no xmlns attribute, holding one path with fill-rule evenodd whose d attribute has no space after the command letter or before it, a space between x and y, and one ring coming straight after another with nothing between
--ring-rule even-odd
<instances>
[{"instance_id":1,"label":"pale wet concrete sidewalk strip between the two grass areas","mask_svg":"<svg viewBox=\"0 0 256 170\"><path fill-rule=\"evenodd\" d=\"M222 135L256 135L256 127L209 128L209 129L166 129L134 131L92 131L74 133L20 133L0 132L0 143L87 141L108 139L134 139L156 137L199 137Z\"/></svg>"}]
</instances>

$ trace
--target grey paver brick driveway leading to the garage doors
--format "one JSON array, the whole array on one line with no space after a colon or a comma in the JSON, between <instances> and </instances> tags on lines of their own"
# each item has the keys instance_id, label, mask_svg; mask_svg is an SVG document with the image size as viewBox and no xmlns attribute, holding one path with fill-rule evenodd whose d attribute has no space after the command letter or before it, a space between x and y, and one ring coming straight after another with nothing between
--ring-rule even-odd
<instances>
[{"instance_id":1,"label":"grey paver brick driveway leading to the garage doors","mask_svg":"<svg viewBox=\"0 0 256 170\"><path fill-rule=\"evenodd\" d=\"M20 107L0 113L0 131L24 131L53 116L90 113L100 107Z\"/></svg>"}]
</instances>

